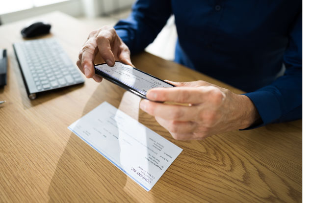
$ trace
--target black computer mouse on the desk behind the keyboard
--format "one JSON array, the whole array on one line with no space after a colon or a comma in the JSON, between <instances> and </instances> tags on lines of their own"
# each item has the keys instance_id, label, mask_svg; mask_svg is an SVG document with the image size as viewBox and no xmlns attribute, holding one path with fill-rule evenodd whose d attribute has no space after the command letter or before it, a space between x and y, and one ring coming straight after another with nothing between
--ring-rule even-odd
<instances>
[{"instance_id":1,"label":"black computer mouse on the desk behind the keyboard","mask_svg":"<svg viewBox=\"0 0 314 203\"><path fill-rule=\"evenodd\" d=\"M33 23L21 30L21 34L24 38L37 37L39 35L48 34L51 25L43 22Z\"/></svg>"}]
</instances>

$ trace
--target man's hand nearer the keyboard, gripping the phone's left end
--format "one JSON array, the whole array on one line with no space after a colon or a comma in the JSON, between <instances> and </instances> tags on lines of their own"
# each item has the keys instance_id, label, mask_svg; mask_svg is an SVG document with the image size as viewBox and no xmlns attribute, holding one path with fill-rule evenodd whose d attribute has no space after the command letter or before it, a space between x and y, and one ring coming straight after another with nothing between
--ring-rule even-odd
<instances>
[{"instance_id":1,"label":"man's hand nearer the keyboard, gripping the phone's left end","mask_svg":"<svg viewBox=\"0 0 314 203\"><path fill-rule=\"evenodd\" d=\"M94 58L98 52L109 66L113 66L116 60L133 66L129 48L113 27L103 26L92 31L78 53L79 70L87 78L92 77L96 82L101 82L103 78L96 76L94 71Z\"/></svg>"}]
</instances>

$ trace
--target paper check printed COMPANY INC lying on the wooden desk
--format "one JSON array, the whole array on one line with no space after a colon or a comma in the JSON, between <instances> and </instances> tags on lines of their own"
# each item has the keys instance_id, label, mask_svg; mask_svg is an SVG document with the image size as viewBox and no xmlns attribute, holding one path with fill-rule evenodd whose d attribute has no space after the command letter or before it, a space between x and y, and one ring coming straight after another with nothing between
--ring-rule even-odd
<instances>
[{"instance_id":1,"label":"paper check printed COMPANY INC lying on the wooden desk","mask_svg":"<svg viewBox=\"0 0 314 203\"><path fill-rule=\"evenodd\" d=\"M68 128L147 191L182 152L108 102Z\"/></svg>"}]
</instances>

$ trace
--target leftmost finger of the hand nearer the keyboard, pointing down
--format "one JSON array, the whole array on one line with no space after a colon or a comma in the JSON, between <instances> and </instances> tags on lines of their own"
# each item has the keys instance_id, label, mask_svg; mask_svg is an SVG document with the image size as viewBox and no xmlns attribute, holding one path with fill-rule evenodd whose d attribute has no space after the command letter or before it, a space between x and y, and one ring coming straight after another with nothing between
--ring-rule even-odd
<instances>
[{"instance_id":1,"label":"leftmost finger of the hand nearer the keyboard, pointing down","mask_svg":"<svg viewBox=\"0 0 314 203\"><path fill-rule=\"evenodd\" d=\"M89 38L82 48L82 68L87 78L90 78L95 74L93 61L96 47L97 44L95 38Z\"/></svg>"}]
</instances>

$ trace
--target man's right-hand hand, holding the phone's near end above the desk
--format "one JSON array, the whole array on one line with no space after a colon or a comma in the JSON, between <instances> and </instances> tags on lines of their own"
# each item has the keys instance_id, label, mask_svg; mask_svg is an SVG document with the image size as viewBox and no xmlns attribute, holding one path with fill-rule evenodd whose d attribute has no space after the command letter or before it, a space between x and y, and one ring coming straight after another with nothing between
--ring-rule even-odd
<instances>
[{"instance_id":1,"label":"man's right-hand hand, holding the phone's near end above the desk","mask_svg":"<svg viewBox=\"0 0 314 203\"><path fill-rule=\"evenodd\" d=\"M168 81L170 82L170 81ZM170 82L177 87L148 91L140 107L178 140L203 139L213 134L251 126L260 118L253 102L244 95L205 81ZM169 105L153 101L186 103Z\"/></svg>"}]
</instances>

